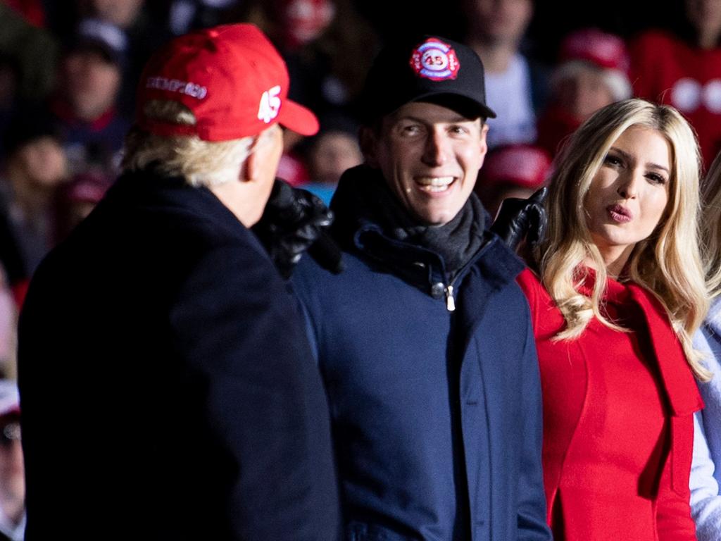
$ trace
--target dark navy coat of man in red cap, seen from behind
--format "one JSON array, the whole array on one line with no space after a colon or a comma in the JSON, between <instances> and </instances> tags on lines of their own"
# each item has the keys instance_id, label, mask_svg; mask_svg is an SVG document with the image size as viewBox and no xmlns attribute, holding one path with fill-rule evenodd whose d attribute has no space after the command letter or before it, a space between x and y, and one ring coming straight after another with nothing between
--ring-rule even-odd
<instances>
[{"instance_id":1,"label":"dark navy coat of man in red cap, seen from behind","mask_svg":"<svg viewBox=\"0 0 721 541\"><path fill-rule=\"evenodd\" d=\"M115 183L32 279L19 387L28 541L337 538L296 301L205 188Z\"/></svg>"}]
</instances>

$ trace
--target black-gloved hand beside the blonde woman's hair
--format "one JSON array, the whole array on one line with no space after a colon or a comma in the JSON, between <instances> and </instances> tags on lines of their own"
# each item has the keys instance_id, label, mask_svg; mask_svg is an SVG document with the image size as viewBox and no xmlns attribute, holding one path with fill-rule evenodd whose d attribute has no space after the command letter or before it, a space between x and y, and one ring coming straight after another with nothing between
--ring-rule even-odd
<instances>
[{"instance_id":1,"label":"black-gloved hand beside the blonde woman's hair","mask_svg":"<svg viewBox=\"0 0 721 541\"><path fill-rule=\"evenodd\" d=\"M516 250L524 238L531 248L537 247L543 240L548 224L543 205L547 192L548 188L544 186L528 199L508 198L501 203L491 231L503 239L511 250Z\"/></svg>"}]
</instances>

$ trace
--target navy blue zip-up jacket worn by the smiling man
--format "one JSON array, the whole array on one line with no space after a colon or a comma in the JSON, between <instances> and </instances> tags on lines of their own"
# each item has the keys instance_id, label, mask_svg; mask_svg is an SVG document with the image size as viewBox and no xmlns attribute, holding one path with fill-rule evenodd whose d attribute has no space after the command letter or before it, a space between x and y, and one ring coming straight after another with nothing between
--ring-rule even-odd
<instances>
[{"instance_id":1,"label":"navy blue zip-up jacket worn by the smiling man","mask_svg":"<svg viewBox=\"0 0 721 541\"><path fill-rule=\"evenodd\" d=\"M293 285L329 395L345 539L548 540L523 264L487 234L451 311L443 260L348 220L344 182L346 269L304 258Z\"/></svg>"}]
</instances>

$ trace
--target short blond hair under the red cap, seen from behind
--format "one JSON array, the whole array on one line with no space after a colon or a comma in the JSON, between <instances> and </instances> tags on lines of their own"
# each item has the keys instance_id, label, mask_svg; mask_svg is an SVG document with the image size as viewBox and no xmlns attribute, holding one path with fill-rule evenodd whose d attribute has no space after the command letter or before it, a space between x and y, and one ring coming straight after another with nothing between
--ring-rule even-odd
<instances>
[{"instance_id":1,"label":"short blond hair under the red cap, seen from behind","mask_svg":"<svg viewBox=\"0 0 721 541\"><path fill-rule=\"evenodd\" d=\"M193 126L195 115L178 102L153 100L143 107L147 118ZM203 141L198 136L156 136L133 127L125 137L121 167L142 170L153 164L160 173L184 177L193 186L237 180L255 137L231 141Z\"/></svg>"}]
</instances>

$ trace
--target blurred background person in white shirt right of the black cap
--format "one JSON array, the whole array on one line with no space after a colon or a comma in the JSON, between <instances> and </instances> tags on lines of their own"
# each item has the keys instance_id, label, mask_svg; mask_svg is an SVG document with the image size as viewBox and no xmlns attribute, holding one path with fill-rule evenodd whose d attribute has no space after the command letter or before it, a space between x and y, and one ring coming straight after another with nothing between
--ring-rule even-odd
<instances>
[{"instance_id":1,"label":"blurred background person in white shirt right of the black cap","mask_svg":"<svg viewBox=\"0 0 721 541\"><path fill-rule=\"evenodd\" d=\"M463 0L468 30L464 43L483 61L488 104L488 146L532 143L536 111L544 102L546 70L521 45L534 13L534 0Z\"/></svg>"}]
</instances>

